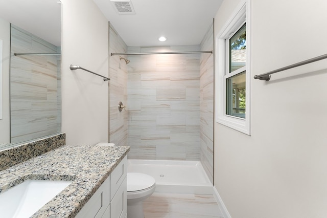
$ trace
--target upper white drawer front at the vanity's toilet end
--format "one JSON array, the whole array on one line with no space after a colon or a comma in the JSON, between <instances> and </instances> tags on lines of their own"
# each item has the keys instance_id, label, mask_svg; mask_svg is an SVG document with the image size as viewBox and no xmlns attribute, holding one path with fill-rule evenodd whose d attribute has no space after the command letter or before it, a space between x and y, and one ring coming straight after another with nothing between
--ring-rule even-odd
<instances>
[{"instance_id":1,"label":"upper white drawer front at the vanity's toilet end","mask_svg":"<svg viewBox=\"0 0 327 218\"><path fill-rule=\"evenodd\" d=\"M119 163L110 174L110 200L114 197L116 191L126 178L127 156Z\"/></svg>"}]
</instances>

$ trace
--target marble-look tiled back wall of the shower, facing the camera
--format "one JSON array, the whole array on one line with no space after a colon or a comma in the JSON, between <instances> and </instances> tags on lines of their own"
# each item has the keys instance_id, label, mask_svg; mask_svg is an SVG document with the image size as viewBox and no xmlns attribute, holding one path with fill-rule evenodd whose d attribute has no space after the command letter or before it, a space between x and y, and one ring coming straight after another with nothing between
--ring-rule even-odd
<instances>
[{"instance_id":1,"label":"marble-look tiled back wall of the shower, facing the camera","mask_svg":"<svg viewBox=\"0 0 327 218\"><path fill-rule=\"evenodd\" d=\"M128 52L199 46L128 47ZM129 158L200 159L200 55L129 55Z\"/></svg>"}]
</instances>

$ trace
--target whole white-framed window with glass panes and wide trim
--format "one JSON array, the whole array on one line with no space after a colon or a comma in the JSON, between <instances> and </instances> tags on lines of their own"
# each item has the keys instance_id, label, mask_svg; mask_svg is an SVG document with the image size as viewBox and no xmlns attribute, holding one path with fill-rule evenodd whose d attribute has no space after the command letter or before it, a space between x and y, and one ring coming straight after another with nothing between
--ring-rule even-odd
<instances>
[{"instance_id":1,"label":"whole white-framed window with glass panes and wide trim","mask_svg":"<svg viewBox=\"0 0 327 218\"><path fill-rule=\"evenodd\" d=\"M250 135L250 0L216 36L216 121Z\"/></svg>"}]
</instances>

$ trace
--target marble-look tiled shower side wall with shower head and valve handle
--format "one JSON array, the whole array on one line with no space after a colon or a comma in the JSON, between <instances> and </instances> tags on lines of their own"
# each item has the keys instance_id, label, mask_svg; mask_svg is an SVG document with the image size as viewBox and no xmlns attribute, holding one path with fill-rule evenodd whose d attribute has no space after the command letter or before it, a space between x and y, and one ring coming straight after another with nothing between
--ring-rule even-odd
<instances>
[{"instance_id":1,"label":"marble-look tiled shower side wall with shower head and valve handle","mask_svg":"<svg viewBox=\"0 0 327 218\"><path fill-rule=\"evenodd\" d=\"M109 24L109 53L125 53L127 46L114 27ZM124 56L126 58L126 56ZM109 57L109 142L126 146L128 137L127 65L119 56ZM127 110L119 112L122 101Z\"/></svg>"}]
</instances>

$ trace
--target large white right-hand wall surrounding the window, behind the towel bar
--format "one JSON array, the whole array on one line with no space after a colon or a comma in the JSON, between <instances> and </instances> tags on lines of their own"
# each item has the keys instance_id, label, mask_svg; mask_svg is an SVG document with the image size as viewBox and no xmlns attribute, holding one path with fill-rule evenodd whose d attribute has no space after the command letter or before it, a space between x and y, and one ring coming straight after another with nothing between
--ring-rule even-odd
<instances>
[{"instance_id":1,"label":"large white right-hand wall surrounding the window, behind the towel bar","mask_svg":"<svg viewBox=\"0 0 327 218\"><path fill-rule=\"evenodd\" d=\"M238 3L223 2L216 34ZM252 0L251 77L327 53L326 8ZM252 79L251 136L215 124L215 186L231 217L327 217L326 66Z\"/></svg>"}]
</instances>

